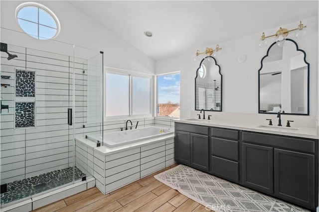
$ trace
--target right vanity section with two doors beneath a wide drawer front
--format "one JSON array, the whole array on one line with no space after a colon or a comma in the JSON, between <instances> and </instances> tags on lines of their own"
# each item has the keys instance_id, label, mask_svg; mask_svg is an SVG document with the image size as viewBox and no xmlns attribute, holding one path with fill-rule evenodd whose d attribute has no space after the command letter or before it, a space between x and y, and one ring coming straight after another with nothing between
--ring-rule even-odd
<instances>
[{"instance_id":1,"label":"right vanity section with two doors beneath a wide drawer front","mask_svg":"<svg viewBox=\"0 0 319 212\"><path fill-rule=\"evenodd\" d=\"M243 185L315 209L318 141L243 132Z\"/></svg>"}]
</instances>

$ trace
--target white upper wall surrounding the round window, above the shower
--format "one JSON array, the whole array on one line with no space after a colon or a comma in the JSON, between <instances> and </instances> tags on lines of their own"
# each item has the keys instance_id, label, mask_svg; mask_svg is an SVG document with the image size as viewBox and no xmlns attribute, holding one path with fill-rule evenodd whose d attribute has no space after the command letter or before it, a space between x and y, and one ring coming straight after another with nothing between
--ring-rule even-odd
<instances>
[{"instance_id":1,"label":"white upper wall surrounding the round window, above the shower","mask_svg":"<svg viewBox=\"0 0 319 212\"><path fill-rule=\"evenodd\" d=\"M63 55L73 54L72 45L47 40L39 41L28 35L3 29L8 28L22 32L15 20L14 13L15 8L22 2L26 1L0 1L1 42ZM76 54L81 54L76 55L76 57L88 59L103 51L104 66L154 73L155 61L153 59L150 59L124 40L118 38L111 31L105 29L101 24L73 7L67 1L45 0L37 2L50 8L60 20L61 32L55 40L96 50L90 51L84 48L77 48ZM88 54L82 55L82 53Z\"/></svg>"}]
</instances>

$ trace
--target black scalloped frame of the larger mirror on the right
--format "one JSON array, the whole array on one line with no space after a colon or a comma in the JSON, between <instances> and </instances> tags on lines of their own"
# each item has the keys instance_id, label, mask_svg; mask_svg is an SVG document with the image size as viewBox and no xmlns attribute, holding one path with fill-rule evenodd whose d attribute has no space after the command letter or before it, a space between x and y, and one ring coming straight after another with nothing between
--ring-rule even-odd
<instances>
[{"instance_id":1,"label":"black scalloped frame of the larger mirror on the right","mask_svg":"<svg viewBox=\"0 0 319 212\"><path fill-rule=\"evenodd\" d=\"M296 43L296 41L286 38L286 41L291 41L296 45L296 50L303 52L304 53L304 62L307 64L308 66L308 77L307 77L307 114L301 114L301 113L282 113L282 114L287 114L287 115L302 115L302 116L309 116L309 79L310 79L310 64L306 61L306 52L302 49L299 49L298 44ZM267 50L267 54L261 59L261 67L258 70L258 113L260 112L260 71L263 69L263 61L266 57L268 57L269 51L270 49L276 44L276 42L274 42L272 45L270 45L270 47ZM277 113L261 113L261 114L277 114Z\"/></svg>"}]
</instances>

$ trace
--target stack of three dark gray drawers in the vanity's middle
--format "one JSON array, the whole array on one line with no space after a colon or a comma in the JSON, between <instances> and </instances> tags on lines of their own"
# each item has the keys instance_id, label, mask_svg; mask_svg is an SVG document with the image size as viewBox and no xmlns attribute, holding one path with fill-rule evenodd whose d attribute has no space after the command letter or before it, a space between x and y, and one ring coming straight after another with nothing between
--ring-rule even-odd
<instances>
[{"instance_id":1,"label":"stack of three dark gray drawers in the vanity's middle","mask_svg":"<svg viewBox=\"0 0 319 212\"><path fill-rule=\"evenodd\" d=\"M211 128L210 173L239 182L239 131Z\"/></svg>"}]
</instances>

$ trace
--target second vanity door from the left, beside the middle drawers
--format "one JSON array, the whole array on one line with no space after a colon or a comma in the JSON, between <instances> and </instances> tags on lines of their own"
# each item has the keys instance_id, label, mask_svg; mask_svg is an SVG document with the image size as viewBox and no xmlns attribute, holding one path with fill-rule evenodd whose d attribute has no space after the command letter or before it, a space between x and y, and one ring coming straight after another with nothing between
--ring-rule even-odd
<instances>
[{"instance_id":1,"label":"second vanity door from the left, beside the middle drawers","mask_svg":"<svg viewBox=\"0 0 319 212\"><path fill-rule=\"evenodd\" d=\"M190 134L190 165L203 171L209 170L209 136Z\"/></svg>"}]
</instances>

